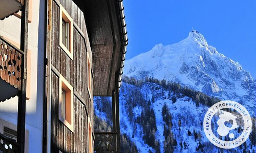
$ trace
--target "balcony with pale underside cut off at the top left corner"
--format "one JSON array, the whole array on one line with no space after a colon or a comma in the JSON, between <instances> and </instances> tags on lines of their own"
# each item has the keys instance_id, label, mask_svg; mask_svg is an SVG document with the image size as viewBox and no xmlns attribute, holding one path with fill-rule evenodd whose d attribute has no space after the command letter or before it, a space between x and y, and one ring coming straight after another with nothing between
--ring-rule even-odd
<instances>
[{"instance_id":1,"label":"balcony with pale underside cut off at the top left corner","mask_svg":"<svg viewBox=\"0 0 256 153\"><path fill-rule=\"evenodd\" d=\"M19 11L21 6L23 6L24 0L1 0L0 1L0 19L4 19L9 15Z\"/></svg>"}]
</instances>

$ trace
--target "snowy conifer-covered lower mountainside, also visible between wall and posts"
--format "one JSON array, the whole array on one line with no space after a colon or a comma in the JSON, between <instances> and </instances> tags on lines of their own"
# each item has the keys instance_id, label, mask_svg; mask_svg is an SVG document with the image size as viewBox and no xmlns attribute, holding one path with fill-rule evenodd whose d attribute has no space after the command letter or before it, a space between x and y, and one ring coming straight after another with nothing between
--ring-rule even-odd
<instances>
[{"instance_id":1,"label":"snowy conifer-covered lower mountainside, also visible between wall and posts","mask_svg":"<svg viewBox=\"0 0 256 153\"><path fill-rule=\"evenodd\" d=\"M123 77L120 89L121 149L123 153L227 152L204 135L204 113L219 98L156 78ZM111 98L94 98L95 131L111 131ZM226 110L230 111L230 110ZM232 110L231 110L232 111ZM255 117L246 143L228 152L255 153ZM212 129L217 125L211 124ZM237 133L243 130L237 128ZM228 137L220 137L227 140Z\"/></svg>"}]
</instances>

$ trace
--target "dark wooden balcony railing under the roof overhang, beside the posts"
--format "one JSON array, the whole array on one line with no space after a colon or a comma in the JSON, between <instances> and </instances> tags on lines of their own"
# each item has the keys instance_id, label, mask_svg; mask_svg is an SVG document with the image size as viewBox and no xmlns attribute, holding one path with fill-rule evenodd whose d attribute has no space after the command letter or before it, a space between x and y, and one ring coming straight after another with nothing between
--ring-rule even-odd
<instances>
[{"instance_id":1,"label":"dark wooden balcony railing under the roof overhang, beside the posts","mask_svg":"<svg viewBox=\"0 0 256 153\"><path fill-rule=\"evenodd\" d=\"M94 132L95 153L116 153L116 132Z\"/></svg>"}]
</instances>

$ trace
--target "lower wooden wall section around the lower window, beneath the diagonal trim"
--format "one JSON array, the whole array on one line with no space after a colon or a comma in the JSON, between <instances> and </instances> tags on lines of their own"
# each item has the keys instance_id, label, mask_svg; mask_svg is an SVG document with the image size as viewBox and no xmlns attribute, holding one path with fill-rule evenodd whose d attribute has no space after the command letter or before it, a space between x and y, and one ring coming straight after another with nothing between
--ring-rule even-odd
<instances>
[{"instance_id":1,"label":"lower wooden wall section around the lower window, beneath the diagonal trim","mask_svg":"<svg viewBox=\"0 0 256 153\"><path fill-rule=\"evenodd\" d=\"M84 153L87 150L86 111L81 101L74 96L74 133L58 117L59 77L52 72L52 146L66 153ZM82 115L84 114L84 115Z\"/></svg>"}]
</instances>

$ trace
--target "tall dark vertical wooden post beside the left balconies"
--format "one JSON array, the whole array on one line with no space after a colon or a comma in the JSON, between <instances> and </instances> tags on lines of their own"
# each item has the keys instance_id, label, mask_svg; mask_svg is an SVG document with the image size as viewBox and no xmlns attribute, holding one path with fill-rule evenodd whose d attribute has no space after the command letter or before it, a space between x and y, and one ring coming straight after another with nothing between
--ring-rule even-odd
<instances>
[{"instance_id":1,"label":"tall dark vertical wooden post beside the left balconies","mask_svg":"<svg viewBox=\"0 0 256 153\"><path fill-rule=\"evenodd\" d=\"M25 148L25 125L26 125L26 83L27 83L27 53L28 53L28 0L24 0L21 8L21 29L20 29L20 50L24 52L22 56L21 70L21 91L19 93L18 104L18 129L17 142L20 143L20 153L24 153Z\"/></svg>"}]
</instances>

